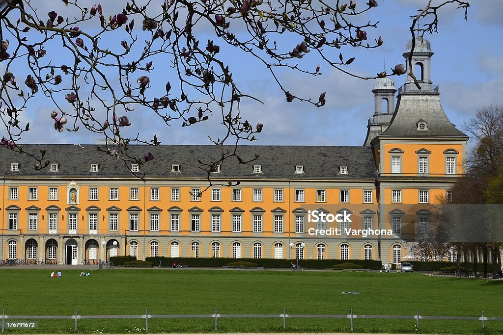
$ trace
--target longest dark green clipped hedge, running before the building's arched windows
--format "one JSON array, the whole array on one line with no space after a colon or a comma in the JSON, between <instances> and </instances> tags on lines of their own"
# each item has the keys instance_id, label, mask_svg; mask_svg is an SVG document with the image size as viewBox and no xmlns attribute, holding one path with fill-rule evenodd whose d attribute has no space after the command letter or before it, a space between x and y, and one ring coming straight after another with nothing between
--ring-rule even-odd
<instances>
[{"instance_id":1,"label":"longest dark green clipped hedge, running before the building's arched windows","mask_svg":"<svg viewBox=\"0 0 503 335\"><path fill-rule=\"evenodd\" d=\"M291 262L296 262L295 260L288 259L270 259L270 258L170 258L170 257L147 257L145 259L147 262L151 262L153 265L158 265L161 262L162 267L171 267L173 263L183 264L186 263L189 267L209 267L209 268L219 268L222 266L229 266L229 264L235 263L236 261L250 262L257 264L258 267L264 268L290 268L292 266ZM325 260L314 260L314 259L303 259L299 260L299 264L304 269L327 269L334 265L339 265L346 263L348 261L336 260L336 259L325 259ZM371 261L371 260L351 260L353 264L361 266L361 269L374 269L378 270L381 268L381 261ZM232 266L232 265L231 265ZM360 268L360 267L359 267Z\"/></svg>"}]
</instances>

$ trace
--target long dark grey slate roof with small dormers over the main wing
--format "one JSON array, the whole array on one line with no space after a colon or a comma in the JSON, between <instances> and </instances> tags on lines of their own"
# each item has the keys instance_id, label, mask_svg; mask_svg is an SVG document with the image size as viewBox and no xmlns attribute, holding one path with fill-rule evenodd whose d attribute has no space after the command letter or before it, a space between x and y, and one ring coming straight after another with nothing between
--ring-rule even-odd
<instances>
[{"instance_id":1,"label":"long dark grey slate roof with small dormers over the main wing","mask_svg":"<svg viewBox=\"0 0 503 335\"><path fill-rule=\"evenodd\" d=\"M21 144L24 151L38 153L47 151L46 157L51 163L59 164L58 172L49 172L48 168L35 171L36 163L26 154L19 154L0 148L0 174L5 176L64 176L64 177L106 177L131 176L122 160L97 151L97 145L69 144ZM143 157L151 152L154 160L140 166L140 171L147 177L203 177L206 172L200 169L198 159L203 163L217 161L221 156L220 147L213 145L160 145L129 146L130 154ZM233 149L232 146L226 147ZM238 147L238 154L246 161L238 164L235 157L226 159L221 164L221 173L212 173L215 177L249 178L292 178L292 179L373 179L377 169L370 147L348 146L246 146ZM19 163L19 172L11 171L11 163ZM99 163L99 172L90 172L91 163ZM180 173L171 172L172 164L180 164ZM253 173L253 165L262 165L263 173ZM303 165L304 174L296 174L295 166ZM348 166L349 175L339 175L339 166ZM133 177L135 178L135 177Z\"/></svg>"}]
</instances>

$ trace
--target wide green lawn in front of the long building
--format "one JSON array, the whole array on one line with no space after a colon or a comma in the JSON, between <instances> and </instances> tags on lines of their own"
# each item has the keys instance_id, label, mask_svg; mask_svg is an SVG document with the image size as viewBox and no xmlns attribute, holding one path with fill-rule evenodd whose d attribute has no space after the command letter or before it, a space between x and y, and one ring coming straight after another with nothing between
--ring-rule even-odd
<instances>
[{"instance_id":1,"label":"wide green lawn in front of the long building","mask_svg":"<svg viewBox=\"0 0 503 335\"><path fill-rule=\"evenodd\" d=\"M9 315L355 314L503 317L503 282L436 278L420 273L221 271L171 269L0 270L0 309ZM360 294L341 294L358 291ZM144 319L79 320L77 332L142 333ZM481 333L480 321L355 319L356 332ZM212 319L149 320L149 332L213 332ZM283 331L281 318L221 318L219 332ZM348 319L287 319L291 332L350 331ZM6 333L72 333L73 320L39 320L39 329ZM484 333L503 333L486 321Z\"/></svg>"}]
</instances>

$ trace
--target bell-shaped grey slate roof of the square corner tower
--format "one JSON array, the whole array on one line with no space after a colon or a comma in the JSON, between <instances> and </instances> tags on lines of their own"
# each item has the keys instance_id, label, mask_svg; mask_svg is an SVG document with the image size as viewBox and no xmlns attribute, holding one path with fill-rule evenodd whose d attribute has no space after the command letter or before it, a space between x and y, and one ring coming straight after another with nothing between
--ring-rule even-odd
<instances>
[{"instance_id":1,"label":"bell-shaped grey slate roof of the square corner tower","mask_svg":"<svg viewBox=\"0 0 503 335\"><path fill-rule=\"evenodd\" d=\"M418 131L419 121L427 123L428 131ZM466 137L456 129L444 112L438 94L401 93L391 125L381 134L396 137Z\"/></svg>"}]
</instances>

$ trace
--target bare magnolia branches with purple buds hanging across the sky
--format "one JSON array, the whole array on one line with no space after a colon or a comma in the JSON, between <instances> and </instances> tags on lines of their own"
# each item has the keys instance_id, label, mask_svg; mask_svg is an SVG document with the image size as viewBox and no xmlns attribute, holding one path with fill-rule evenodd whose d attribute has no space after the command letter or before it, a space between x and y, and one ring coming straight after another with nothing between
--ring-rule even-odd
<instances>
[{"instance_id":1,"label":"bare magnolia branches with purple buds hanging across the sky","mask_svg":"<svg viewBox=\"0 0 503 335\"><path fill-rule=\"evenodd\" d=\"M211 141L221 146L221 156L214 162L200 162L209 178L226 159L235 158L239 164L257 159L240 157L238 143L255 141L264 127L241 114L243 99L261 102L261 97L243 91L242 78L233 77L222 47L262 64L286 101L317 107L325 104L325 92L304 96L302 91L291 91L279 75L283 69L321 75L321 65L311 68L304 61L311 51L325 65L353 77L388 75L356 75L350 67L355 57L343 55L351 48L373 49L384 43L378 34L379 21L367 20L377 0L358 5L339 0L130 0L119 10L108 2L91 8L81 3L62 0L59 4L65 7L60 13L42 13L34 0L0 0L4 147L25 153L19 144L25 133L48 131L32 129L35 125L24 121L27 110L42 99L52 105L46 116L52 118L52 131L101 134L106 144L98 150L122 159L128 167L131 162L154 159L148 151L140 157L131 154L130 144L156 146L167 141L160 134L127 135L139 114L155 115L166 127L195 127L217 118L223 125L221 136ZM466 18L468 3L451 0L432 6L430 1L410 17L412 36L436 31L437 11L449 5L464 8ZM420 18L426 23L417 27ZM368 34L376 38L368 39ZM391 75L404 74L403 67L397 64ZM226 149L224 143L233 149ZM36 170L50 164L46 151L27 154L36 161Z\"/></svg>"}]
</instances>

